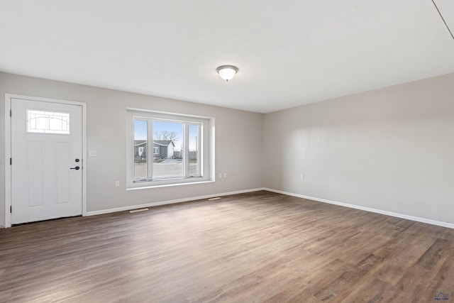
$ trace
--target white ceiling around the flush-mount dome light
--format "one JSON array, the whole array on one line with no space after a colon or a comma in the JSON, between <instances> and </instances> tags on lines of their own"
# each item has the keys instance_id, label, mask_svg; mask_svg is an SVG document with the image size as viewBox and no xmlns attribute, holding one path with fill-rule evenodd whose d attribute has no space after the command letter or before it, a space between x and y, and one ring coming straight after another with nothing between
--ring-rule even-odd
<instances>
[{"instance_id":1,"label":"white ceiling around the flush-mount dome light","mask_svg":"<svg viewBox=\"0 0 454 303\"><path fill-rule=\"evenodd\" d=\"M0 0L0 43L3 72L260 113L454 72L431 0Z\"/></svg>"}]
</instances>

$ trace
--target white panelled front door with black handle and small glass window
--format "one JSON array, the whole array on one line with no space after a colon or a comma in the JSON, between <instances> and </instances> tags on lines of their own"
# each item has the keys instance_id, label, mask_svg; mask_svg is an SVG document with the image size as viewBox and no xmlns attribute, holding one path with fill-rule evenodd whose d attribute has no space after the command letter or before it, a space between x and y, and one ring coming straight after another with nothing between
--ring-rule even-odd
<instances>
[{"instance_id":1,"label":"white panelled front door with black handle and small glass window","mask_svg":"<svg viewBox=\"0 0 454 303\"><path fill-rule=\"evenodd\" d=\"M11 223L82 214L82 106L11 99Z\"/></svg>"}]
</instances>

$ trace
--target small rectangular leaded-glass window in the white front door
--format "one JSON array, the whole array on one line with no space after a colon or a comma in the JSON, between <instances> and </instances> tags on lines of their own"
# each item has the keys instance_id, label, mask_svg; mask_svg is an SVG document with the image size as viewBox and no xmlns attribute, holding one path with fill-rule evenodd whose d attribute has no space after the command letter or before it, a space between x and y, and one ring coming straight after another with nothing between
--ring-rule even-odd
<instances>
[{"instance_id":1,"label":"small rectangular leaded-glass window in the white front door","mask_svg":"<svg viewBox=\"0 0 454 303\"><path fill-rule=\"evenodd\" d=\"M70 114L27 109L28 133L70 133Z\"/></svg>"}]
</instances>

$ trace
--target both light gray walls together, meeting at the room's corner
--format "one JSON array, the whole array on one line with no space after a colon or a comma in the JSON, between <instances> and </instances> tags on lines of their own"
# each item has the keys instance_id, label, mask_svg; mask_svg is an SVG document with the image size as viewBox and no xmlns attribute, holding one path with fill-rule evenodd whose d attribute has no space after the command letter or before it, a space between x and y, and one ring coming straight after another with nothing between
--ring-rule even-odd
<instances>
[{"instance_id":1,"label":"both light gray walls together, meeting at the room's corner","mask_svg":"<svg viewBox=\"0 0 454 303\"><path fill-rule=\"evenodd\" d=\"M6 92L87 103L88 211L267 187L454 223L454 74L265 115L0 73L2 121ZM126 107L214 117L228 177L126 192Z\"/></svg>"}]
</instances>

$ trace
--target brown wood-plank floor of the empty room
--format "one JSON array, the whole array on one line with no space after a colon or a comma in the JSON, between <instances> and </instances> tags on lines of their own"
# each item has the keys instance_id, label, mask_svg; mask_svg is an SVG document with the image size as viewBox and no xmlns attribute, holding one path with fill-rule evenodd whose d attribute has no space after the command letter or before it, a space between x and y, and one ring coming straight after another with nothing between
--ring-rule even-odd
<instances>
[{"instance_id":1,"label":"brown wood-plank floor of the empty room","mask_svg":"<svg viewBox=\"0 0 454 303\"><path fill-rule=\"evenodd\" d=\"M453 229L255 192L0 230L0 302L454 302L453 248Z\"/></svg>"}]
</instances>

